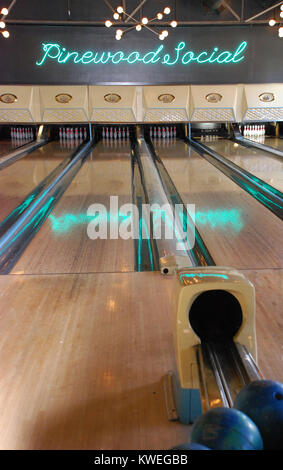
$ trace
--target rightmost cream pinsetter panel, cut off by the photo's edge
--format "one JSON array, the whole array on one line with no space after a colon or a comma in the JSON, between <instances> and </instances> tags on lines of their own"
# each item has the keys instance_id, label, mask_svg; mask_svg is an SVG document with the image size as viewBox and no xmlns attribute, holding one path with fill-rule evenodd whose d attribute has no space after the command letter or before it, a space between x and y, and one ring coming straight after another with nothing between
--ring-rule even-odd
<instances>
[{"instance_id":1,"label":"rightmost cream pinsetter panel, cut off by the photo's edge","mask_svg":"<svg viewBox=\"0 0 283 470\"><path fill-rule=\"evenodd\" d=\"M245 85L243 121L283 121L283 84Z\"/></svg>"}]
</instances>

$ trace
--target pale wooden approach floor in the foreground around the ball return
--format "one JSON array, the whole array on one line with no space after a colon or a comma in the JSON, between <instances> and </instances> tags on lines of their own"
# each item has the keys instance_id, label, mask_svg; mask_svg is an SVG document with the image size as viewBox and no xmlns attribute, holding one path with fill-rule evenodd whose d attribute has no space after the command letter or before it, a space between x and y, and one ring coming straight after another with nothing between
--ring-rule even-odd
<instances>
[{"instance_id":1,"label":"pale wooden approach floor in the foreground around the ball return","mask_svg":"<svg viewBox=\"0 0 283 470\"><path fill-rule=\"evenodd\" d=\"M283 271L245 271L259 366L283 381ZM0 277L0 448L169 449L173 279L159 273Z\"/></svg>"}]
</instances>

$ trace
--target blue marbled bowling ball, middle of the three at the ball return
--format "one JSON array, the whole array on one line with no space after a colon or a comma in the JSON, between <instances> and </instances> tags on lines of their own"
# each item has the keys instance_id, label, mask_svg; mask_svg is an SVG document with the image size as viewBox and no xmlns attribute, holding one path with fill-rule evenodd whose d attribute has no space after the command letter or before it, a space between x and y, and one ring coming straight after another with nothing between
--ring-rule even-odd
<instances>
[{"instance_id":1,"label":"blue marbled bowling ball, middle of the three at the ball return","mask_svg":"<svg viewBox=\"0 0 283 470\"><path fill-rule=\"evenodd\" d=\"M254 422L233 408L212 408L192 427L191 442L213 450L262 450L263 442Z\"/></svg>"}]
</instances>

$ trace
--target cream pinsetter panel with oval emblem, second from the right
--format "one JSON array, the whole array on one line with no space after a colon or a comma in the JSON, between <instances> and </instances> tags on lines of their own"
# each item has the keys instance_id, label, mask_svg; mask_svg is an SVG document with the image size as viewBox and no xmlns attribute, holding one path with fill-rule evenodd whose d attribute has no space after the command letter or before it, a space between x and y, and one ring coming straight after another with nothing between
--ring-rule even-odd
<instances>
[{"instance_id":1,"label":"cream pinsetter panel with oval emblem, second from the right","mask_svg":"<svg viewBox=\"0 0 283 470\"><path fill-rule=\"evenodd\" d=\"M237 120L242 89L237 85L191 86L190 120L234 122Z\"/></svg>"}]
</instances>

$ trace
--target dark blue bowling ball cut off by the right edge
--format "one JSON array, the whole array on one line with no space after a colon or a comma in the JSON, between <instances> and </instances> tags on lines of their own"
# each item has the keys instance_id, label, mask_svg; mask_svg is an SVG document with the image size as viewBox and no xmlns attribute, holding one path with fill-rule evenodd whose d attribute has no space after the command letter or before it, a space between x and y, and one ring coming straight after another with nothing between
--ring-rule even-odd
<instances>
[{"instance_id":1,"label":"dark blue bowling ball cut off by the right edge","mask_svg":"<svg viewBox=\"0 0 283 470\"><path fill-rule=\"evenodd\" d=\"M283 384L257 380L237 395L234 408L249 416L257 425L266 450L283 449Z\"/></svg>"}]
</instances>

